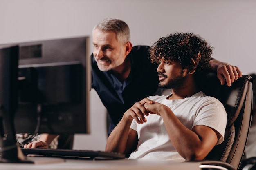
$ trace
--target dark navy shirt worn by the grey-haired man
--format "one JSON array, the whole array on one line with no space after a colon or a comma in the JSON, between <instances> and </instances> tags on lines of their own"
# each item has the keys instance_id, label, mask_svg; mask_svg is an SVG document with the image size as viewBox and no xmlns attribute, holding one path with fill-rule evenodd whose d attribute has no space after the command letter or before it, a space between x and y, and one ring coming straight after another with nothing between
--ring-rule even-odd
<instances>
[{"instance_id":1,"label":"dark navy shirt worn by the grey-haired man","mask_svg":"<svg viewBox=\"0 0 256 170\"><path fill-rule=\"evenodd\" d=\"M112 124L116 126L135 102L152 95L158 89L157 64L150 62L149 46L134 46L130 57L131 72L124 82L120 82L112 71L100 71L92 59L92 88L98 93L106 107ZM112 129L109 130L109 133Z\"/></svg>"}]
</instances>

